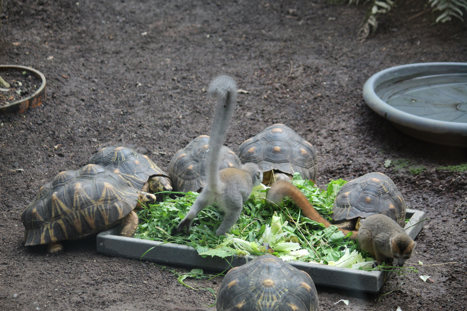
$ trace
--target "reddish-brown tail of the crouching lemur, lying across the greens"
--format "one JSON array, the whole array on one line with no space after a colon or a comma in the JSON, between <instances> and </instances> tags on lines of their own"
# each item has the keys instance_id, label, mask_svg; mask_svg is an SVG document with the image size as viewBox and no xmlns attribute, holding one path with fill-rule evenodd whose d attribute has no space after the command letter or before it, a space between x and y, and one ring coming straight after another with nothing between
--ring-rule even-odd
<instances>
[{"instance_id":1,"label":"reddish-brown tail of the crouching lemur, lying across the greens","mask_svg":"<svg viewBox=\"0 0 467 311\"><path fill-rule=\"evenodd\" d=\"M289 181L277 181L275 182L271 188L268 190L267 198L274 203L282 202L284 197L289 197L294 203L300 207L303 214L310 218L313 221L321 222L325 225L326 228L331 226L332 224L325 220L316 209L310 204L310 201L306 198L306 196L294 185L292 185ZM357 231L349 231L346 229L339 228L340 231L344 235L347 235L349 232L352 232L352 235L349 237L351 240L356 240L358 232Z\"/></svg>"}]
</instances>

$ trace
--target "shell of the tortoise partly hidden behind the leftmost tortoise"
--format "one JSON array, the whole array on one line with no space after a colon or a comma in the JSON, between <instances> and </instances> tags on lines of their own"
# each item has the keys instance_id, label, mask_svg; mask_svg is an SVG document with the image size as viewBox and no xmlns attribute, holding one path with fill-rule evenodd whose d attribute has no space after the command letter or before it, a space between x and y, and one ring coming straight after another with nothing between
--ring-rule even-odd
<instances>
[{"instance_id":1,"label":"shell of the tortoise partly hidden behind the leftmost tortoise","mask_svg":"<svg viewBox=\"0 0 467 311\"><path fill-rule=\"evenodd\" d=\"M142 189L152 176L169 178L148 156L126 147L102 148L89 159L89 164L120 174L128 185L136 189Z\"/></svg>"}]
</instances>

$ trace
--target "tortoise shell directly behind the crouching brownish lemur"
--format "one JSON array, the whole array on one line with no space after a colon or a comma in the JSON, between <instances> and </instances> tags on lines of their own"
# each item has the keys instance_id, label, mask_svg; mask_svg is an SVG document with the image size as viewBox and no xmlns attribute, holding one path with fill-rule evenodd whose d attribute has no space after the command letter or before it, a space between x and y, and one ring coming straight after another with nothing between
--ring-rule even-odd
<instances>
[{"instance_id":1,"label":"tortoise shell directly behind the crouching brownish lemur","mask_svg":"<svg viewBox=\"0 0 467 311\"><path fill-rule=\"evenodd\" d=\"M405 201L394 181L383 173L368 173L342 186L334 200L334 221L385 214L405 225Z\"/></svg>"}]
</instances>

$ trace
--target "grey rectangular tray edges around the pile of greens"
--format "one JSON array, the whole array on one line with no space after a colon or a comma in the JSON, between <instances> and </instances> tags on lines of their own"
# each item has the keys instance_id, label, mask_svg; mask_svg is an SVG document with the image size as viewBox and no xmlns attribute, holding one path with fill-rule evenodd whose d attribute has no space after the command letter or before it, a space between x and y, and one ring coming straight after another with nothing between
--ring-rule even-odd
<instances>
[{"instance_id":1,"label":"grey rectangular tray edges around the pile of greens","mask_svg":"<svg viewBox=\"0 0 467 311\"><path fill-rule=\"evenodd\" d=\"M406 217L410 221L405 225L405 232L413 239L423 228L425 212L407 209ZM198 255L191 246L135 239L118 235L119 226L102 231L97 235L97 251L106 255L152 261L164 264L178 264L201 269L223 271L241 266L247 262L245 257L237 255L221 259L220 257ZM416 257L416 256L414 256ZM251 260L253 257L249 257ZM307 272L317 285L361 290L376 293L386 281L390 272L364 271L339 268L319 263L289 261L297 269Z\"/></svg>"}]
</instances>

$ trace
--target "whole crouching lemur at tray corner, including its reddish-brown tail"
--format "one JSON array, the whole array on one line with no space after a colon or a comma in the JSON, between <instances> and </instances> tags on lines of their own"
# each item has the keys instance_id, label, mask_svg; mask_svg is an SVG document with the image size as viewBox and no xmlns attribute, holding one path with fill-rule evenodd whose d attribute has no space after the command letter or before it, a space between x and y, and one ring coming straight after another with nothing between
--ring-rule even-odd
<instances>
[{"instance_id":1,"label":"whole crouching lemur at tray corner, including its reddish-brown tail","mask_svg":"<svg viewBox=\"0 0 467 311\"><path fill-rule=\"evenodd\" d=\"M267 198L275 203L281 202L284 197L289 197L293 200L302 209L303 214L311 220L323 223L326 228L331 225L329 221L326 221L318 214L300 189L288 181L276 182L267 194ZM382 262L392 264L393 258L402 267L405 260L412 256L412 251L417 244L404 232L404 229L396 221L383 214L368 216L362 221L358 232L341 228L339 230L344 235L352 232L350 236L351 240L358 238L360 248L375 257L376 263L373 264L374 267Z\"/></svg>"}]
</instances>

